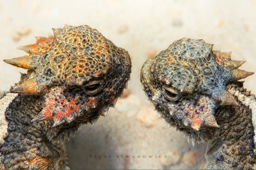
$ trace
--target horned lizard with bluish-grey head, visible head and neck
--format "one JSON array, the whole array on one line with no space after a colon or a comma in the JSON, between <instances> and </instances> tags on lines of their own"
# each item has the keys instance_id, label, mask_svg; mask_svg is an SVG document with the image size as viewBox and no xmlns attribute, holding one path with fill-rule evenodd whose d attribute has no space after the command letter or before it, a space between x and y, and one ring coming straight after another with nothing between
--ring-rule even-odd
<instances>
[{"instance_id":1,"label":"horned lizard with bluish-grey head, visible head and neck","mask_svg":"<svg viewBox=\"0 0 256 170\"><path fill-rule=\"evenodd\" d=\"M142 89L169 127L207 142L207 169L255 169L256 100L238 82L253 74L244 61L212 51L203 40L183 38L148 59Z\"/></svg>"}]
</instances>

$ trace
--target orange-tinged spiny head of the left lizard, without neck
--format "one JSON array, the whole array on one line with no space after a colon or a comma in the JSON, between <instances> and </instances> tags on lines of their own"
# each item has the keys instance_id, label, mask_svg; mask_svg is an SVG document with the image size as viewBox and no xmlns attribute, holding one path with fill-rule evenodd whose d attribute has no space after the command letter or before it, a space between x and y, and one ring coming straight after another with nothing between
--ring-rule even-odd
<instances>
[{"instance_id":1,"label":"orange-tinged spiny head of the left lizard, without neck","mask_svg":"<svg viewBox=\"0 0 256 170\"><path fill-rule=\"evenodd\" d=\"M89 26L53 29L54 36L37 37L20 47L29 55L4 60L28 69L12 93L41 95L45 107L32 122L53 119L53 127L79 118L94 124L114 107L130 79L131 59Z\"/></svg>"}]
</instances>

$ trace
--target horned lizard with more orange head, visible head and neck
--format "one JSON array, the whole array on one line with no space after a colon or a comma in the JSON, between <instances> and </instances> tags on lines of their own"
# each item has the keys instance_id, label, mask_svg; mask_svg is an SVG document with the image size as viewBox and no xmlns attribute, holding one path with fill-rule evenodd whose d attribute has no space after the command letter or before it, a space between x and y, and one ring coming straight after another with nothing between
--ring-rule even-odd
<instances>
[{"instance_id":1,"label":"horned lizard with more orange head, visible head and neck","mask_svg":"<svg viewBox=\"0 0 256 170\"><path fill-rule=\"evenodd\" d=\"M65 139L106 116L130 79L127 51L97 30L53 32L20 47L28 56L5 60L28 73L0 101L0 169L65 168Z\"/></svg>"}]
</instances>

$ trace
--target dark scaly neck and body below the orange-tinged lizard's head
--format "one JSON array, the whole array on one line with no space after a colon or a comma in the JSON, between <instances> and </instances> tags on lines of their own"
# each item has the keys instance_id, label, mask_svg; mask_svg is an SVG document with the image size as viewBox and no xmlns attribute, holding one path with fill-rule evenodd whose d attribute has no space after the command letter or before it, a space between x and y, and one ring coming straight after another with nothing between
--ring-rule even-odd
<instances>
[{"instance_id":1,"label":"dark scaly neck and body below the orange-tinged lizard's head","mask_svg":"<svg viewBox=\"0 0 256 170\"><path fill-rule=\"evenodd\" d=\"M7 97L5 108L1 106L2 120L5 119L7 126L0 127L7 128L7 133L1 138L0 143L0 169L65 167L65 143L49 140L47 136L51 123L31 122L44 107L42 97L8 93L1 101Z\"/></svg>"}]
</instances>

